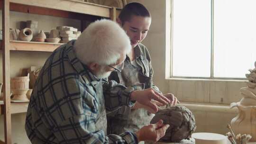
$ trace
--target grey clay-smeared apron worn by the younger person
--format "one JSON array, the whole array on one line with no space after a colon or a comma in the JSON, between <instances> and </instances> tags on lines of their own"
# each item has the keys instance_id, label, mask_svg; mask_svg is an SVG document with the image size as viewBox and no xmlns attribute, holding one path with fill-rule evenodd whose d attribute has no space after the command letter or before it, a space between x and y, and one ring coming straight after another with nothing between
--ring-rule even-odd
<instances>
[{"instance_id":1,"label":"grey clay-smeared apron worn by the younger person","mask_svg":"<svg viewBox=\"0 0 256 144\"><path fill-rule=\"evenodd\" d=\"M139 63L138 65L145 65L148 68L148 64ZM144 67L145 68L145 67ZM128 59L124 62L124 70L122 72L117 72L119 77L119 83L129 87L137 83L145 83L145 89L152 87L152 77L149 76L149 70L144 71L145 74L141 72L139 66L132 65L128 62ZM149 125L153 114L149 113L145 109L131 109L128 117L122 117L118 115L114 118L109 119L110 124L110 134L119 135L126 131L136 132L143 126Z\"/></svg>"}]
</instances>

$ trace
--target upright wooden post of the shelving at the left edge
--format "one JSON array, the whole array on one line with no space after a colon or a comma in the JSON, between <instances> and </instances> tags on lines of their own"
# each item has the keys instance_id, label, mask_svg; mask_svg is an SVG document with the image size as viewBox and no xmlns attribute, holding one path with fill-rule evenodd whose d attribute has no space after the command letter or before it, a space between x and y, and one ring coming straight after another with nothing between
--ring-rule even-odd
<instances>
[{"instance_id":1,"label":"upright wooden post of the shelving at the left edge","mask_svg":"<svg viewBox=\"0 0 256 144\"><path fill-rule=\"evenodd\" d=\"M3 94L4 94L4 139L5 144L11 144L11 113L10 113L10 50L9 50L9 0L3 0Z\"/></svg>"}]
</instances>

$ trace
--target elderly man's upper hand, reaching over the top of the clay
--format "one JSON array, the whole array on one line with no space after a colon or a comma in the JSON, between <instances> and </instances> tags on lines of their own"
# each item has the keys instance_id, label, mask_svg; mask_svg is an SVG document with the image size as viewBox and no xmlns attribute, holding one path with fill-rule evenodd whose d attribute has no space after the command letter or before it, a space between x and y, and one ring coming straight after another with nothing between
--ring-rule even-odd
<instances>
[{"instance_id":1,"label":"elderly man's upper hand, reaching over the top of the clay","mask_svg":"<svg viewBox=\"0 0 256 144\"><path fill-rule=\"evenodd\" d=\"M145 90L135 90L131 93L131 100L136 100L140 104L145 105L153 109L153 111L157 112L158 110L157 105L151 101L152 99L164 105L167 105L170 103L169 99L165 98L165 96L156 92L152 88L145 89Z\"/></svg>"}]
</instances>

